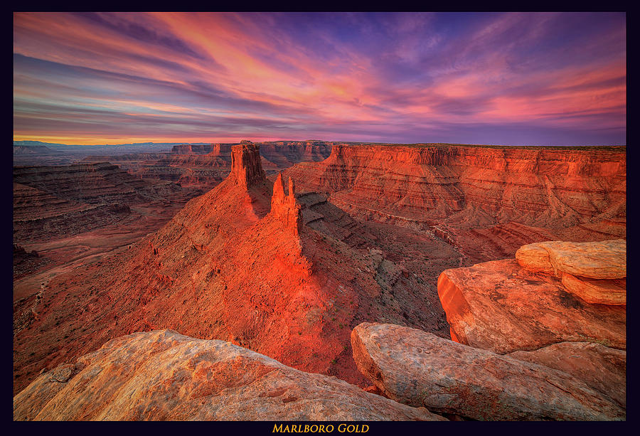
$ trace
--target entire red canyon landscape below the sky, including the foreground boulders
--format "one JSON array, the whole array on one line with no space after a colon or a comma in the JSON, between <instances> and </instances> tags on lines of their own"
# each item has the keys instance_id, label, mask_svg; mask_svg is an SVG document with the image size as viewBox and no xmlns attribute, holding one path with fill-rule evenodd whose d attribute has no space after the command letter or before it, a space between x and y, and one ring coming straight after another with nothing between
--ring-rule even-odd
<instances>
[{"instance_id":1,"label":"entire red canyon landscape below the sky, including the foreground boulders","mask_svg":"<svg viewBox=\"0 0 640 436\"><path fill-rule=\"evenodd\" d=\"M14 166L14 419L624 420L626 147Z\"/></svg>"}]
</instances>

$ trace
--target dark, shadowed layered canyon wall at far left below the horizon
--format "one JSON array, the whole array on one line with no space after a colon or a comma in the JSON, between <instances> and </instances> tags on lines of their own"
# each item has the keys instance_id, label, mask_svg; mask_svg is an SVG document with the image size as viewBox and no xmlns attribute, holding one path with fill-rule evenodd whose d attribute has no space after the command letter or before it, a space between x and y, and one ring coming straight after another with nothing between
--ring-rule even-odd
<instances>
[{"instance_id":1,"label":"dark, shadowed layered canyon wall at far left below the horizon","mask_svg":"<svg viewBox=\"0 0 640 436\"><path fill-rule=\"evenodd\" d=\"M199 191L145 181L118 166L14 166L14 242L75 235L129 216L143 203L185 203Z\"/></svg>"}]
</instances>

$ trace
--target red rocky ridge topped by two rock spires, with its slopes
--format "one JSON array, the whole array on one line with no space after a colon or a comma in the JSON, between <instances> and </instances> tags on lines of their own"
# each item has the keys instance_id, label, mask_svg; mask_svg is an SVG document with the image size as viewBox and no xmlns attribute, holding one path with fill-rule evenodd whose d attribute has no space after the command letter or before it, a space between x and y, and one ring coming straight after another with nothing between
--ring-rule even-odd
<instances>
[{"instance_id":1,"label":"red rocky ridge topped by two rock spires, with its slopes","mask_svg":"<svg viewBox=\"0 0 640 436\"><path fill-rule=\"evenodd\" d=\"M159 231L55 277L37 302L14 305L14 319L23 319L15 336L16 390L42 368L134 331L231 341L358 386L367 382L349 336L361 321L447 334L434 287L417 290L427 287L417 275L424 274L423 257L404 262L396 253L430 252L434 280L437 265L456 265L449 245L358 222L320 198L299 196L293 183L284 195L282 179L280 187L265 179L255 144L233 152L230 176ZM33 304L38 319L30 318Z\"/></svg>"}]
</instances>

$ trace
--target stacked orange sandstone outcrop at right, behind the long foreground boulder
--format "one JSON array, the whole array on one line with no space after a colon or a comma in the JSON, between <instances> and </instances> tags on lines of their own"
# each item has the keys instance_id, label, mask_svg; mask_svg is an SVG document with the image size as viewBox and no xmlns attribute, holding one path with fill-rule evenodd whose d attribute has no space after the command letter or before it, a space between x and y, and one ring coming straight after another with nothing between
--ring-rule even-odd
<instances>
[{"instance_id":1,"label":"stacked orange sandstone outcrop at right, behind the long foreground boulder","mask_svg":"<svg viewBox=\"0 0 640 436\"><path fill-rule=\"evenodd\" d=\"M438 294L452 339L564 371L626 408L625 280L563 272L622 274L624 245L537 243L517 262L445 270Z\"/></svg>"}]
</instances>

